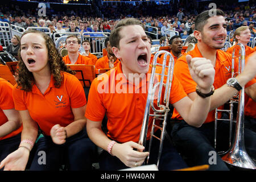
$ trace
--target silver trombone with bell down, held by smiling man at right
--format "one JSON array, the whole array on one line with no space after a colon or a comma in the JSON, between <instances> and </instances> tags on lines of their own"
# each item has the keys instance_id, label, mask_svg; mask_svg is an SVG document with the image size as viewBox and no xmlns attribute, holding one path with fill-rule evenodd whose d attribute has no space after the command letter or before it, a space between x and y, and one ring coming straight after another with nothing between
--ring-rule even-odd
<instances>
[{"instance_id":1,"label":"silver trombone with bell down, held by smiling man at right","mask_svg":"<svg viewBox=\"0 0 256 182\"><path fill-rule=\"evenodd\" d=\"M234 53L236 51L236 47L240 47L239 55L235 56ZM232 77L235 76L234 73L234 59L239 57L239 65L238 65L238 74L243 71L243 67L245 66L245 47L238 43L233 49L232 52ZM216 130L217 130L217 121L223 120L217 118L218 111L228 111L229 121L230 121L230 133L229 133L229 144L230 148L226 152L222 152L224 156L222 156L222 160L224 162L241 168L248 169L256 169L256 166L250 156L247 154L245 149L245 140L244 140L244 102L245 102L245 88L244 86L238 93L238 100L232 98L230 100L230 110L218 110L216 109L215 113L215 126L214 126L214 147L216 148ZM238 110L237 110L237 121L236 121L236 133L234 135L233 143L231 144L231 136L232 136L232 122L233 122L233 103L238 102Z\"/></svg>"}]
</instances>

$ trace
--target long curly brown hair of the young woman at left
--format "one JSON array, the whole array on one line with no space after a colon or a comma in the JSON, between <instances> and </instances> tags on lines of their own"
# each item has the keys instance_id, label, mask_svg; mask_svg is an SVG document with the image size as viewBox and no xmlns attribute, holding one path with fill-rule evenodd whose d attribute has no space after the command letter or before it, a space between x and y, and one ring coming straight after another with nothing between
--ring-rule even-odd
<instances>
[{"instance_id":1,"label":"long curly brown hair of the young woman at left","mask_svg":"<svg viewBox=\"0 0 256 182\"><path fill-rule=\"evenodd\" d=\"M54 85L56 88L60 88L61 82L63 81L63 74L61 72L67 72L71 73L72 75L75 75L76 73L72 71L70 68L65 65L62 56L57 51L55 47L55 43L53 40L45 34L42 31L38 30L28 30L24 32L22 37L26 34L35 33L40 34L46 43L46 47L48 49L48 61L49 61L49 67L51 70L51 74L53 75ZM32 75L32 72L28 71L26 65L24 64L22 57L20 56L20 49L18 51L18 78L16 80L18 86L21 90L25 90L26 92L30 92L32 90L32 86L35 84L34 76Z\"/></svg>"}]
</instances>

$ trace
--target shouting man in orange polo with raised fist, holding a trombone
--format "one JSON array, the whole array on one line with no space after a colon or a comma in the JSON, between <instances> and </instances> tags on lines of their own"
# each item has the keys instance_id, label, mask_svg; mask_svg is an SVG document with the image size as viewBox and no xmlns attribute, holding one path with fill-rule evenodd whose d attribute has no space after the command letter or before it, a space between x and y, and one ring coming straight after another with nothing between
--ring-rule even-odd
<instances>
[{"instance_id":1,"label":"shouting man in orange polo with raised fist, holding a trombone","mask_svg":"<svg viewBox=\"0 0 256 182\"><path fill-rule=\"evenodd\" d=\"M147 100L148 75L151 72L150 43L142 22L134 18L118 22L110 34L110 44L120 63L93 81L85 113L90 139L104 149L100 155L102 170L141 166L149 154L141 152L144 146L138 144ZM213 65L209 60L191 57L188 57L188 63L198 89L210 96L213 93ZM159 67L156 69L158 73L161 71ZM209 111L210 97L197 96L196 100L192 101L174 75L170 103L185 121L199 127ZM107 134L101 130L105 114L108 117ZM149 124L152 125L151 119ZM149 135L150 130L147 140ZM159 149L157 142L152 145L150 163L155 163ZM164 140L159 169L171 170L186 166L171 142Z\"/></svg>"}]
</instances>

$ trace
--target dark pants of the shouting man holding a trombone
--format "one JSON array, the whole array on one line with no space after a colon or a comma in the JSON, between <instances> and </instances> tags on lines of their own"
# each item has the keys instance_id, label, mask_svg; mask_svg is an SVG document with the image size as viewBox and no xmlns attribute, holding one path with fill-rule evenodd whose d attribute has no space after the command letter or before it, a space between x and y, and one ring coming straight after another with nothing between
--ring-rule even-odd
<instances>
[{"instance_id":1,"label":"dark pants of the shouting man holding a trombone","mask_svg":"<svg viewBox=\"0 0 256 182\"><path fill-rule=\"evenodd\" d=\"M149 142L148 142L149 143ZM147 145L148 146L148 145ZM147 151L147 148L146 148ZM152 148L150 152L149 164L156 164L159 151L159 140L153 138ZM170 140L164 139L162 155L159 161L159 170L169 171L174 169L186 168L187 164L177 153ZM117 157L110 155L107 151L100 154L100 170L119 170L129 168L125 166Z\"/></svg>"}]
</instances>

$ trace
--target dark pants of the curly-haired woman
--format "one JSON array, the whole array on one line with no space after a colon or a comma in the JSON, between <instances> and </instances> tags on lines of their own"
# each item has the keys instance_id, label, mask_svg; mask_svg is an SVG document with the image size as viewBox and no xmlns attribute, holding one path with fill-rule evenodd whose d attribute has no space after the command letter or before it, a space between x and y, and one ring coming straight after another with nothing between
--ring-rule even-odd
<instances>
[{"instance_id":1,"label":"dark pants of the curly-haired woman","mask_svg":"<svg viewBox=\"0 0 256 182\"><path fill-rule=\"evenodd\" d=\"M59 170L62 165L71 171L90 170L97 155L96 149L85 129L61 145L53 143L51 137L44 136L34 146L30 170Z\"/></svg>"}]
</instances>

